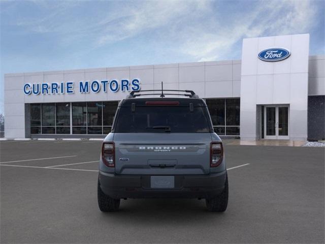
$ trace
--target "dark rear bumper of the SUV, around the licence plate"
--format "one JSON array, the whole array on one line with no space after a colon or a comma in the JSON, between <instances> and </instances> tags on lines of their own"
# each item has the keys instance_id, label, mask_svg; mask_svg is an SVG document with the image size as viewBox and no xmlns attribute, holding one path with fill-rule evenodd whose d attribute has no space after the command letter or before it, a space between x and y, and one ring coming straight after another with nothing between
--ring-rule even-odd
<instances>
[{"instance_id":1,"label":"dark rear bumper of the SUV, around the licence plate","mask_svg":"<svg viewBox=\"0 0 325 244\"><path fill-rule=\"evenodd\" d=\"M209 175L175 175L173 189L150 188L150 175L116 175L100 171L102 191L111 198L212 198L222 192L226 171Z\"/></svg>"}]
</instances>

